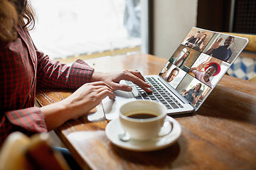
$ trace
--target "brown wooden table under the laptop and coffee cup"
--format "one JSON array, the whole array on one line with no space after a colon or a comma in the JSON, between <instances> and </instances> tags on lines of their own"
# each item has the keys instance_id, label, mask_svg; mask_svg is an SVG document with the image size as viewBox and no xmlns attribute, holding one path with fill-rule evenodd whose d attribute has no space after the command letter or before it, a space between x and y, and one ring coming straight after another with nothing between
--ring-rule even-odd
<instances>
[{"instance_id":1,"label":"brown wooden table under the laptop and coffee cup","mask_svg":"<svg viewBox=\"0 0 256 170\"><path fill-rule=\"evenodd\" d=\"M88 60L98 71L138 69L158 74L165 59L126 55ZM41 105L60 101L72 91L38 91ZM178 141L154 152L131 152L112 145L105 135L101 106L70 120L55 132L83 169L256 169L256 84L225 75L203 106L175 119Z\"/></svg>"}]
</instances>

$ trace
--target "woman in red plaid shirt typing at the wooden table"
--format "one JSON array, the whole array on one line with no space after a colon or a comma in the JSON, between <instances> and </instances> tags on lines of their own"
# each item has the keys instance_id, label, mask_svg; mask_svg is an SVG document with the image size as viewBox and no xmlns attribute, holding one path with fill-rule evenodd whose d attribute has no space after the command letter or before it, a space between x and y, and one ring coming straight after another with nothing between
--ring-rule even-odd
<instances>
[{"instance_id":1,"label":"woman in red plaid shirt typing at the wooden table","mask_svg":"<svg viewBox=\"0 0 256 170\"><path fill-rule=\"evenodd\" d=\"M11 132L48 132L87 114L103 98L114 98L114 90L132 91L131 86L119 84L122 79L151 92L137 70L102 73L82 60L72 66L50 60L36 48L28 33L35 26L34 18L28 0L0 0L0 146ZM75 92L38 108L34 101L36 89L40 88Z\"/></svg>"}]
</instances>

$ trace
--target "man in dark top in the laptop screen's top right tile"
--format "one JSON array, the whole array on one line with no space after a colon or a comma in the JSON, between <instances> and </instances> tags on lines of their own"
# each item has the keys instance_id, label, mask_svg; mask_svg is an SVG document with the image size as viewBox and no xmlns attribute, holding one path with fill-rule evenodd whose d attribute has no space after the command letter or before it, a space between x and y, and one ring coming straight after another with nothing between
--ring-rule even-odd
<instances>
[{"instance_id":1,"label":"man in dark top in the laptop screen's top right tile","mask_svg":"<svg viewBox=\"0 0 256 170\"><path fill-rule=\"evenodd\" d=\"M234 39L234 37L228 36L228 38L225 39L224 45L219 45L223 38L216 40L210 49L206 51L206 54L223 60L224 62L229 62L233 54L230 45L234 42Z\"/></svg>"}]
</instances>

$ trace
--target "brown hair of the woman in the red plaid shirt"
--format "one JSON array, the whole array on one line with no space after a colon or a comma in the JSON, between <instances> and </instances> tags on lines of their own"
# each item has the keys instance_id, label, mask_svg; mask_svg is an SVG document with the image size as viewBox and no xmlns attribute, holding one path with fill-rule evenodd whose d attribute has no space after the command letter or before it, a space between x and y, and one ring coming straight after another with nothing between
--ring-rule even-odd
<instances>
[{"instance_id":1,"label":"brown hair of the woman in the red plaid shirt","mask_svg":"<svg viewBox=\"0 0 256 170\"><path fill-rule=\"evenodd\" d=\"M21 24L23 28L33 29L35 14L28 0L0 0L0 39L4 41L16 40L15 26Z\"/></svg>"}]
</instances>

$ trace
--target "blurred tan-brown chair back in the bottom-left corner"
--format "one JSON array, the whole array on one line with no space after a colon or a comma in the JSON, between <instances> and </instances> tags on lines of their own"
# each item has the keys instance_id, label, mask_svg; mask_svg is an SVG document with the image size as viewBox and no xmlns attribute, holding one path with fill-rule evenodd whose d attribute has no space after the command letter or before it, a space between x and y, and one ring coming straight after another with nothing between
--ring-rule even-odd
<instances>
[{"instance_id":1,"label":"blurred tan-brown chair back in the bottom-left corner","mask_svg":"<svg viewBox=\"0 0 256 170\"><path fill-rule=\"evenodd\" d=\"M50 146L48 133L27 137L13 132L0 150L1 170L70 169L62 154Z\"/></svg>"}]
</instances>

